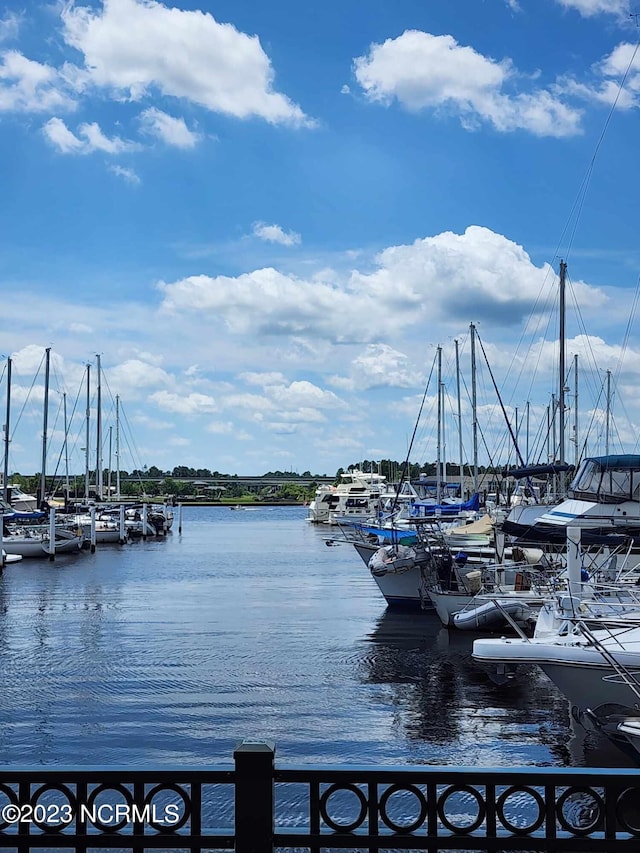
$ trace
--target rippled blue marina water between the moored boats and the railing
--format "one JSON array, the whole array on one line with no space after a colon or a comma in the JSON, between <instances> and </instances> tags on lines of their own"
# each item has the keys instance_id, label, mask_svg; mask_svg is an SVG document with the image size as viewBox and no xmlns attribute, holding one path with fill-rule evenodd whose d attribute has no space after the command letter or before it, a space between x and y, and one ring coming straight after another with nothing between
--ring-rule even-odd
<instances>
[{"instance_id":1,"label":"rippled blue marina water between the moored boats and the railing","mask_svg":"<svg viewBox=\"0 0 640 853\"><path fill-rule=\"evenodd\" d=\"M628 766L532 669L388 611L301 508L185 508L166 541L0 577L0 762L207 765L243 738L304 762ZM176 524L177 528L177 524Z\"/></svg>"}]
</instances>

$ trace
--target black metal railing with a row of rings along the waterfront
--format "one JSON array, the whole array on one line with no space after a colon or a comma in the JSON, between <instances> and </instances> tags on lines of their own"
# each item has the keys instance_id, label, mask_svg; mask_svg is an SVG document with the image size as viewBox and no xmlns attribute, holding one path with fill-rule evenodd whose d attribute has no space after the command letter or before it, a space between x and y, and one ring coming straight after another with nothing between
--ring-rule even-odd
<instances>
[{"instance_id":1,"label":"black metal railing with a row of rings along the waterfront","mask_svg":"<svg viewBox=\"0 0 640 853\"><path fill-rule=\"evenodd\" d=\"M0 770L0 847L27 850L640 849L640 771L285 767L243 741L208 770Z\"/></svg>"}]
</instances>

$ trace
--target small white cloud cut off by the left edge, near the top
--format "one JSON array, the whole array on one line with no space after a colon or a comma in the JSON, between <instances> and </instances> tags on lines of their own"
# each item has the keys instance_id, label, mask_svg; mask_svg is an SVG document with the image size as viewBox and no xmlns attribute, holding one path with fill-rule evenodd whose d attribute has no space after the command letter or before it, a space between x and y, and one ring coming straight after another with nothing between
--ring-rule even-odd
<instances>
[{"instance_id":1,"label":"small white cloud cut off by the left edge, near the top","mask_svg":"<svg viewBox=\"0 0 640 853\"><path fill-rule=\"evenodd\" d=\"M16 50L2 54L0 111L37 113L74 107L55 68L27 59Z\"/></svg>"}]
</instances>

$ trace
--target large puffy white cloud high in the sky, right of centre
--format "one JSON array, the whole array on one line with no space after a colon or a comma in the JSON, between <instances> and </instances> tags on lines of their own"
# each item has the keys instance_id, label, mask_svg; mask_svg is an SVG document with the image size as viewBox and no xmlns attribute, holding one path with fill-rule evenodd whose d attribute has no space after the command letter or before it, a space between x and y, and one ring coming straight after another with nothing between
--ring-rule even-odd
<instances>
[{"instance_id":1,"label":"large puffy white cloud high in the sky, right of centre","mask_svg":"<svg viewBox=\"0 0 640 853\"><path fill-rule=\"evenodd\" d=\"M382 104L398 100L407 109L449 109L466 127L489 122L501 132L527 130L537 136L579 132L580 112L551 92L509 95L518 77L510 60L496 62L453 36L407 30L371 46L354 61L354 73L367 98Z\"/></svg>"}]
</instances>

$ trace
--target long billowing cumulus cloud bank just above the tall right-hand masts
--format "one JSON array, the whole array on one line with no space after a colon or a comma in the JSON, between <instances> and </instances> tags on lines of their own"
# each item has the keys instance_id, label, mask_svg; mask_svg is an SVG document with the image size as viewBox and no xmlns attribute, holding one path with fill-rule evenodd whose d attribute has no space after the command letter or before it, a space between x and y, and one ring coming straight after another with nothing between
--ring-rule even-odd
<instances>
[{"instance_id":1,"label":"long billowing cumulus cloud bank just above the tall right-hand masts","mask_svg":"<svg viewBox=\"0 0 640 853\"><path fill-rule=\"evenodd\" d=\"M535 266L521 246L470 226L463 234L392 246L375 258L371 272L354 270L343 280L333 275L330 283L266 268L237 278L191 276L159 288L164 313L222 320L234 334L375 344L412 326L459 324L461 311L491 327L520 323L540 311L540 291L550 276L552 270ZM602 291L581 282L573 290L583 308L607 304Z\"/></svg>"}]
</instances>

